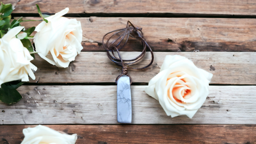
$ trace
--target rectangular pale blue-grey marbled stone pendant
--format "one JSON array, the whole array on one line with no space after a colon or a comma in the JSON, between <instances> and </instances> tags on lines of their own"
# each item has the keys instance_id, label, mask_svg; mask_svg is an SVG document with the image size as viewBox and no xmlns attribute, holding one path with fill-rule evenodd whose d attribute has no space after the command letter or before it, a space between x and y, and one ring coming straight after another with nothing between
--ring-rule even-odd
<instances>
[{"instance_id":1,"label":"rectangular pale blue-grey marbled stone pendant","mask_svg":"<svg viewBox=\"0 0 256 144\"><path fill-rule=\"evenodd\" d=\"M132 122L132 96L130 94L129 76L121 76L118 79L118 122Z\"/></svg>"}]
</instances>

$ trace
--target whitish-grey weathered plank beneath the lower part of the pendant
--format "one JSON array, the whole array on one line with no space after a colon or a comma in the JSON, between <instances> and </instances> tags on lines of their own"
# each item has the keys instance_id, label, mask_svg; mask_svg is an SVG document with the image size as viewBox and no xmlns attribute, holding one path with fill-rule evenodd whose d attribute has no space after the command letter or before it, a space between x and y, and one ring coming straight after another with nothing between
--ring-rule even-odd
<instances>
[{"instance_id":1,"label":"whitish-grey weathered plank beneath the lower part of the pendant","mask_svg":"<svg viewBox=\"0 0 256 144\"><path fill-rule=\"evenodd\" d=\"M159 102L132 86L133 124L256 124L256 86L210 86L192 119L171 118ZM0 124L118 124L116 86L22 86L23 99L0 103Z\"/></svg>"}]
</instances>

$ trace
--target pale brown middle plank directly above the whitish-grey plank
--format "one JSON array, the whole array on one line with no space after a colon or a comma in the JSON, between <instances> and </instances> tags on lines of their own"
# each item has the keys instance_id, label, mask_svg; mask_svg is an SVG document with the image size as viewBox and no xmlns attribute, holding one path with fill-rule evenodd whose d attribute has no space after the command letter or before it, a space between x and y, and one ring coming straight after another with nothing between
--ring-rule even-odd
<instances>
[{"instance_id":1,"label":"pale brown middle plank directly above the whitish-grey plank","mask_svg":"<svg viewBox=\"0 0 256 144\"><path fill-rule=\"evenodd\" d=\"M123 52L123 58L135 57L140 52ZM256 53L254 52L154 52L154 63L144 71L128 70L133 82L149 82L159 73L166 55L183 55L196 66L214 74L211 84L256 84ZM150 53L138 66L150 62ZM121 67L108 59L106 52L81 52L68 68L50 65L36 54L32 61L38 66L38 83L80 83L80 82L115 82L121 74Z\"/></svg>"}]
</instances>

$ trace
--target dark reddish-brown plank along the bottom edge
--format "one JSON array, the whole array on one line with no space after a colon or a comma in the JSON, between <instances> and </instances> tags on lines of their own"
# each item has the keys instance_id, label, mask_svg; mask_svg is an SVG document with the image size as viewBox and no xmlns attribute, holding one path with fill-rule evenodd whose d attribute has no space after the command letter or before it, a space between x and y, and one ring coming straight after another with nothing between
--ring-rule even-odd
<instances>
[{"instance_id":1,"label":"dark reddish-brown plank along the bottom edge","mask_svg":"<svg viewBox=\"0 0 256 144\"><path fill-rule=\"evenodd\" d=\"M22 130L0 126L0 143L21 143ZM255 143L255 125L48 125L78 134L76 143Z\"/></svg>"}]
</instances>

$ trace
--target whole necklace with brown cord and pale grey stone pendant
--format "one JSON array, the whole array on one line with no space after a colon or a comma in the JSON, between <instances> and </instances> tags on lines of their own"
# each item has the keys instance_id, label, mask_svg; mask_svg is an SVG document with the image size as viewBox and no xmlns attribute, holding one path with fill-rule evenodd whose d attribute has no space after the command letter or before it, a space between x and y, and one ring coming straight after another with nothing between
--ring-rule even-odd
<instances>
[{"instance_id":1,"label":"whole necklace with brown cord and pale grey stone pendant","mask_svg":"<svg viewBox=\"0 0 256 144\"><path fill-rule=\"evenodd\" d=\"M108 38L106 38L109 36ZM124 60L121 57L119 50L126 46L128 39L138 39L142 42L143 50L140 55L130 60ZM106 39L106 44L104 40ZM130 94L130 85L132 84L132 78L128 74L128 69L143 70L148 68L154 61L154 55L151 47L148 45L143 37L142 28L135 27L130 21L127 22L126 28L119 30L110 31L103 36L102 39L103 47L106 49L108 58L118 66L122 66L122 73L116 78L117 86L117 108L118 108L118 122L120 123L131 123L132 122L132 101ZM130 67L138 63L146 54L146 49L150 50L151 62L142 67ZM114 54L117 52L118 57Z\"/></svg>"}]
</instances>

